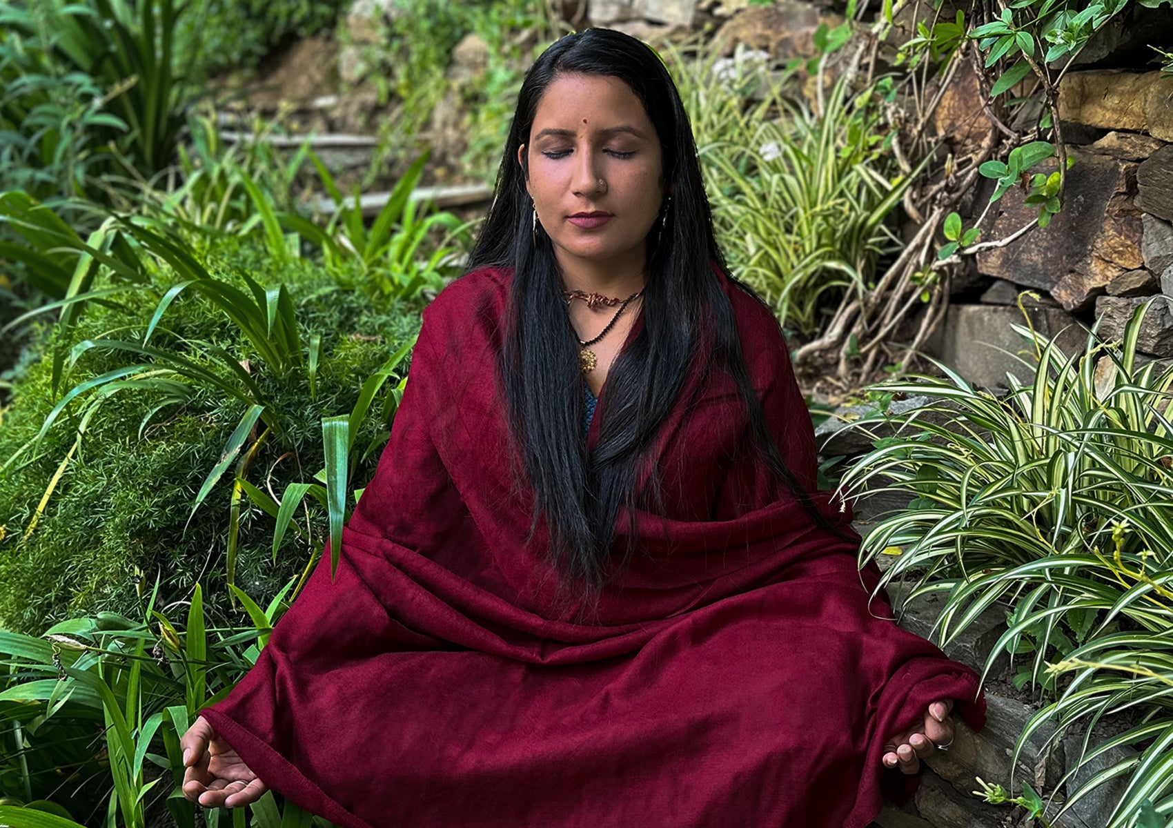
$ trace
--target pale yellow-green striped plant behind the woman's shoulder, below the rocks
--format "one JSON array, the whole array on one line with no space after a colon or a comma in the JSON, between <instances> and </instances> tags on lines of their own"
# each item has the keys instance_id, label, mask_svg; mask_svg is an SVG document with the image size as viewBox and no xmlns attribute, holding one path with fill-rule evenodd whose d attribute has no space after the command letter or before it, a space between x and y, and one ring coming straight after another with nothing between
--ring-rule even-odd
<instances>
[{"instance_id":1,"label":"pale yellow-green striped plant behind the woman's shoulder, below the rocks","mask_svg":"<svg viewBox=\"0 0 1173 828\"><path fill-rule=\"evenodd\" d=\"M745 50L732 60L665 56L692 114L730 265L785 326L818 333L836 301L862 297L896 242L886 220L908 177L894 175L874 108L842 76L820 111L795 106L786 96L794 68L771 77ZM760 100L747 106L751 94Z\"/></svg>"}]
</instances>

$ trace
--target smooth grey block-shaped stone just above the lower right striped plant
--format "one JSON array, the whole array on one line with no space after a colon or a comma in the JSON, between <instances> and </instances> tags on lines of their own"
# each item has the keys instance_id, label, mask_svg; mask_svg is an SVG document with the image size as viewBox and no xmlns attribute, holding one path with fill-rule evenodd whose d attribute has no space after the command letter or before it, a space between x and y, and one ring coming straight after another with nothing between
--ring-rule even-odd
<instances>
[{"instance_id":1,"label":"smooth grey block-shaped stone just above the lower right striped plant","mask_svg":"<svg viewBox=\"0 0 1173 828\"><path fill-rule=\"evenodd\" d=\"M1036 332L1059 338L1065 354L1084 349L1086 331L1070 314L1056 307L1028 307L1026 312ZM1008 373L1026 380L1035 375L1033 348L1010 327L1025 324L1017 307L950 305L944 325L925 345L925 352L986 388L1004 386Z\"/></svg>"}]
</instances>

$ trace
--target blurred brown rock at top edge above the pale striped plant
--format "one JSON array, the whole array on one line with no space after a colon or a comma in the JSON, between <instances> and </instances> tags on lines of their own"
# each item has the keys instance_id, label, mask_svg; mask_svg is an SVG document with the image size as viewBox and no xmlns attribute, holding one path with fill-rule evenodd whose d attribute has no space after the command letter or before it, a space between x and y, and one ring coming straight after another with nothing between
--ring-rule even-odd
<instances>
[{"instance_id":1,"label":"blurred brown rock at top edge above the pale striped plant","mask_svg":"<svg viewBox=\"0 0 1173 828\"><path fill-rule=\"evenodd\" d=\"M842 15L821 11L801 0L780 0L773 6L750 6L725 21L710 48L731 55L739 43L761 49L777 61L814 57L814 33L820 23L834 28Z\"/></svg>"}]
</instances>

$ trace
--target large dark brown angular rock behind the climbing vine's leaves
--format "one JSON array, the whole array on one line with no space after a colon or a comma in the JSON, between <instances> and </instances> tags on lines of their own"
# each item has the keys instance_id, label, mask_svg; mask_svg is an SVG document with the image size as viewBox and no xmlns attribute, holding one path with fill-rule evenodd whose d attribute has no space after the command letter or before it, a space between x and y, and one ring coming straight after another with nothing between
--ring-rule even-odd
<instances>
[{"instance_id":1,"label":"large dark brown angular rock behind the climbing vine's leaves","mask_svg":"<svg viewBox=\"0 0 1173 828\"><path fill-rule=\"evenodd\" d=\"M1077 163L1067 175L1063 211L1045 230L1032 230L1004 247L977 254L978 270L1019 285L1047 291L1069 311L1090 307L1107 284L1141 266L1140 212L1133 205L1137 164L1071 148ZM1031 172L1050 174L1056 158ZM989 232L1006 237L1030 223L1037 209L1023 205L1012 188Z\"/></svg>"}]
</instances>

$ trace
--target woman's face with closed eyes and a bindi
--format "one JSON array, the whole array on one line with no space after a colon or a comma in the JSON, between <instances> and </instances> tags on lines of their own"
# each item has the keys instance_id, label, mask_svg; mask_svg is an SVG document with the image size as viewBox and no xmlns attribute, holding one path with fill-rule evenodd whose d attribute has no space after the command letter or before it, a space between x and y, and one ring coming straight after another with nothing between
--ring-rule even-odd
<instances>
[{"instance_id":1,"label":"woman's face with closed eyes and a bindi","mask_svg":"<svg viewBox=\"0 0 1173 828\"><path fill-rule=\"evenodd\" d=\"M527 158L528 156L528 158ZM568 265L644 267L645 239L664 201L659 137L626 83L602 75L561 75L537 104L526 189L537 220ZM605 220L575 218L604 212Z\"/></svg>"}]
</instances>

